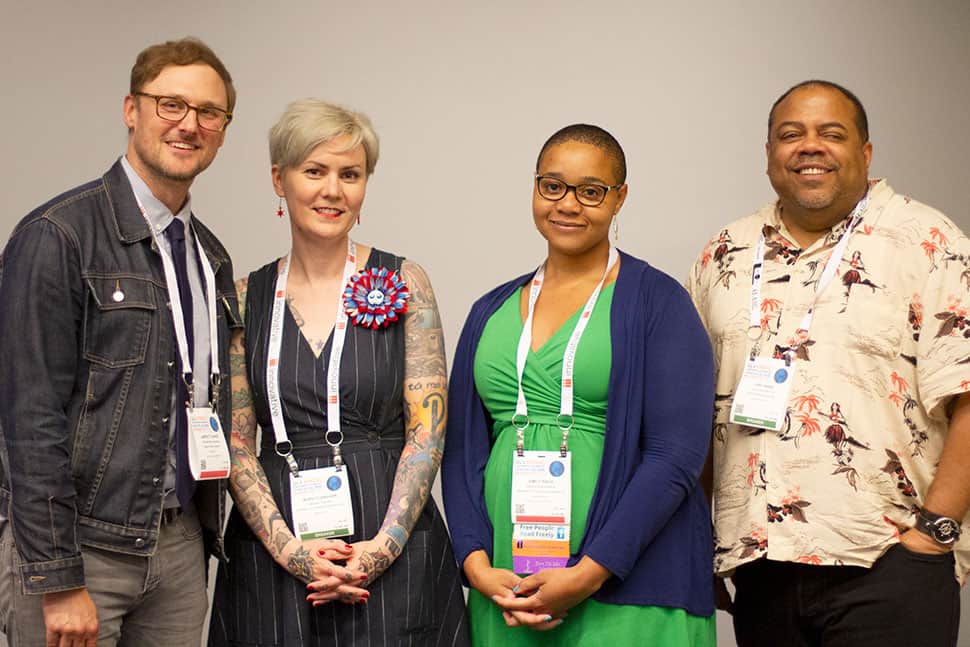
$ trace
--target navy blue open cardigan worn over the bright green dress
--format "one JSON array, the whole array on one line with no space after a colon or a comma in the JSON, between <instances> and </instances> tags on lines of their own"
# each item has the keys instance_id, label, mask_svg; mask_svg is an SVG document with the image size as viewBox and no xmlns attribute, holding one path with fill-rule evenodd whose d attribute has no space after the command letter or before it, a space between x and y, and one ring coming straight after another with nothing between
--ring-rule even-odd
<instances>
[{"instance_id":1,"label":"navy blue open cardigan worn over the bright green dress","mask_svg":"<svg viewBox=\"0 0 970 647\"><path fill-rule=\"evenodd\" d=\"M680 284L637 258L620 257L603 462L583 541L569 564L589 555L613 573L593 596L600 602L707 616L714 612L713 544L698 477L711 438L710 341ZM489 317L531 277L479 299L455 352L441 474L459 566L476 550L492 556L483 494L492 420L475 389L475 351Z\"/></svg>"}]
</instances>

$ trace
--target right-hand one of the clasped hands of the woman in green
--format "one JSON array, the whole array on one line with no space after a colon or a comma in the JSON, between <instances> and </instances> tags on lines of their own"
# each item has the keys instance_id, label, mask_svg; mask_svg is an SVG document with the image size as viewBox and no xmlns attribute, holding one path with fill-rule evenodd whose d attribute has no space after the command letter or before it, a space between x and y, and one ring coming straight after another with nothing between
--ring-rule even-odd
<instances>
[{"instance_id":1,"label":"right-hand one of the clasped hands of the woman in green","mask_svg":"<svg viewBox=\"0 0 970 647\"><path fill-rule=\"evenodd\" d=\"M549 568L524 578L513 592L519 597L492 598L517 624L545 630L559 626L566 612L596 593L610 572L589 557L575 566ZM506 617L506 624L512 623Z\"/></svg>"}]
</instances>

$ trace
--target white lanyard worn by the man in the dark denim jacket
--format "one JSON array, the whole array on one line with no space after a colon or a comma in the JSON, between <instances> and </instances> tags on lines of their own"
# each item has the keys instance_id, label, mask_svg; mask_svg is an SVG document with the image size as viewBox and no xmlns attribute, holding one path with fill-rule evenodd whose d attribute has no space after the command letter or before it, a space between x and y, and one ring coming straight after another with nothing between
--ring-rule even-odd
<instances>
[{"instance_id":1,"label":"white lanyard worn by the man in the dark denim jacket","mask_svg":"<svg viewBox=\"0 0 970 647\"><path fill-rule=\"evenodd\" d=\"M152 240L155 241L155 247L158 249L159 255L162 257L162 269L165 272L165 283L166 289L168 290L168 301L172 304L172 324L175 327L175 345L178 347L179 358L182 360L182 380L185 382L185 386L188 389L189 401L186 404L188 407L195 406L195 377L192 375L192 362L189 360L189 343L188 337L185 331L185 318L182 314L182 297L179 295L178 291L178 277L175 274L175 264L172 262L171 252L165 251L159 240L158 234L155 228L152 226L151 220L148 219L148 214L145 212L145 207L142 205L141 200L138 196L135 196L135 202L138 203L138 208L141 210L142 217L145 218L145 222L148 223L148 229L151 231ZM195 233L195 226L190 223L192 227L192 238L195 241L195 251L201 259L199 263L202 266L202 277L205 280L205 292L206 292L206 306L209 310L209 372L210 372L210 390L209 390L209 404L215 409L216 403L219 398L219 384L222 381L219 375L219 353L216 352L219 344L219 329L216 322L216 277L212 272L212 265L209 264L209 259L205 255L205 251L202 249L202 245L199 243L199 237Z\"/></svg>"}]
</instances>

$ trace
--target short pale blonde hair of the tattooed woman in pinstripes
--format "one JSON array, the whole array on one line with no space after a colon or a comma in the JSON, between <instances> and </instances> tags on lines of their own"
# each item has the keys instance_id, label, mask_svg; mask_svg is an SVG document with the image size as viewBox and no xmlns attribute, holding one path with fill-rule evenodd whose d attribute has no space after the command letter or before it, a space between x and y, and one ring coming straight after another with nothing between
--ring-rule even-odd
<instances>
[{"instance_id":1,"label":"short pale blonde hair of the tattooed woman in pinstripes","mask_svg":"<svg viewBox=\"0 0 970 647\"><path fill-rule=\"evenodd\" d=\"M363 144L367 175L374 172L380 145L367 115L319 99L294 101L269 130L269 158L280 170L303 163L314 148L342 135L347 150Z\"/></svg>"}]
</instances>

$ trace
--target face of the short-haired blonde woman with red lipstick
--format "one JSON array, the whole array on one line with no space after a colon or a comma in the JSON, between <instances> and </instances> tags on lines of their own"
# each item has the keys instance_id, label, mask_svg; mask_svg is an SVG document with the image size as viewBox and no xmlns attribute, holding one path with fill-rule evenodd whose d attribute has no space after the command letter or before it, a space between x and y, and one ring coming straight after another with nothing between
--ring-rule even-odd
<instances>
[{"instance_id":1,"label":"face of the short-haired blonde woman with red lipstick","mask_svg":"<svg viewBox=\"0 0 970 647\"><path fill-rule=\"evenodd\" d=\"M324 142L298 166L274 166L273 186L286 200L294 238L340 238L357 221L367 189L367 154L347 137Z\"/></svg>"}]
</instances>

